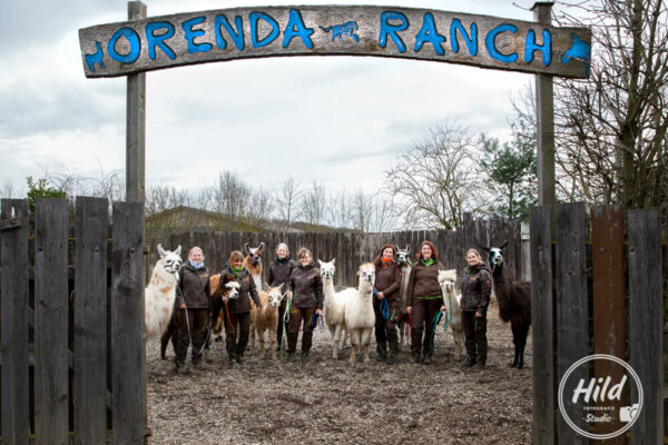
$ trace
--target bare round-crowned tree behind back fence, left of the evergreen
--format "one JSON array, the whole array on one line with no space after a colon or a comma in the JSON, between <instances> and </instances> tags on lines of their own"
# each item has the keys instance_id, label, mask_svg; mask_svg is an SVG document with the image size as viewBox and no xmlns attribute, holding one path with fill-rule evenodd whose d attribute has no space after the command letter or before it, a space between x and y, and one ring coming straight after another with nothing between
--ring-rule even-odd
<instances>
[{"instance_id":1,"label":"bare round-crowned tree behind back fence, left of the evergreen","mask_svg":"<svg viewBox=\"0 0 668 445\"><path fill-rule=\"evenodd\" d=\"M452 229L466 211L482 211L477 142L468 128L434 126L385 171L386 191L409 228Z\"/></svg>"}]
</instances>

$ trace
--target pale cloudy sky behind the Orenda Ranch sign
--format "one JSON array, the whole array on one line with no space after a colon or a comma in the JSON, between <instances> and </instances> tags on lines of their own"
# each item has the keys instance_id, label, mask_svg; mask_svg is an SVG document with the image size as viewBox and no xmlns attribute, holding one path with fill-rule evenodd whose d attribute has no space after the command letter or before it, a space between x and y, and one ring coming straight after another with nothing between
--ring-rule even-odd
<instances>
[{"instance_id":1,"label":"pale cloudy sky behind the Orenda Ranch sign","mask_svg":"<svg viewBox=\"0 0 668 445\"><path fill-rule=\"evenodd\" d=\"M148 17L248 6L391 4L532 20L524 0L145 0ZM22 0L0 27L0 188L125 170L126 78L87 79L78 29L127 20L119 0ZM425 129L446 121L509 137L511 98L533 76L370 57L217 62L147 73L146 185L197 189L229 170L375 192Z\"/></svg>"}]
</instances>

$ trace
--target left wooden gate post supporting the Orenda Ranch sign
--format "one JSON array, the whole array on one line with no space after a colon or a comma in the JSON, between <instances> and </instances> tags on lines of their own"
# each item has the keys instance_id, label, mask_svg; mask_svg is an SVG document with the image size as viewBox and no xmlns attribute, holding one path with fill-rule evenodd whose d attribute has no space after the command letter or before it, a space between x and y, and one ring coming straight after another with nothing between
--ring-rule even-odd
<instances>
[{"instance_id":1,"label":"left wooden gate post supporting the Orenda Ranch sign","mask_svg":"<svg viewBox=\"0 0 668 445\"><path fill-rule=\"evenodd\" d=\"M128 19L146 18L146 4L128 2ZM141 201L146 196L146 73L128 76L126 115L126 201Z\"/></svg>"}]
</instances>

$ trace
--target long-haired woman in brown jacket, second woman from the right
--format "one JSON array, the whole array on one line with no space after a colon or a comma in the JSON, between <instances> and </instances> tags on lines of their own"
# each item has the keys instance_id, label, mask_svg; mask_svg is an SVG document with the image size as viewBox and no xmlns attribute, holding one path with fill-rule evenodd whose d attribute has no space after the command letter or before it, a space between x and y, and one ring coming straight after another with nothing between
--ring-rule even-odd
<instances>
[{"instance_id":1,"label":"long-haired woman in brown jacket, second woman from the right","mask_svg":"<svg viewBox=\"0 0 668 445\"><path fill-rule=\"evenodd\" d=\"M439 270L443 270L443 265L439 261L436 247L430 241L422 241L418 250L418 263L409 277L406 298L406 310L413 318L411 363L432 362L434 320L439 310L445 310Z\"/></svg>"}]
</instances>

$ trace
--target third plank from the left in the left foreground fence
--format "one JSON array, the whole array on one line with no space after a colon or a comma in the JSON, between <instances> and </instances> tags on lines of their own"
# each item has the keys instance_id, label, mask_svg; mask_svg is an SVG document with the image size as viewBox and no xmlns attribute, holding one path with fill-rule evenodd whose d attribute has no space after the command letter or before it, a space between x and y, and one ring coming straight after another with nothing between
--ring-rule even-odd
<instances>
[{"instance_id":1,"label":"third plank from the left in the left foreground fence","mask_svg":"<svg viewBox=\"0 0 668 445\"><path fill-rule=\"evenodd\" d=\"M107 199L78 197L75 260L75 443L107 433Z\"/></svg>"}]
</instances>

